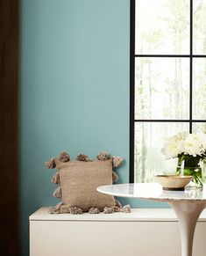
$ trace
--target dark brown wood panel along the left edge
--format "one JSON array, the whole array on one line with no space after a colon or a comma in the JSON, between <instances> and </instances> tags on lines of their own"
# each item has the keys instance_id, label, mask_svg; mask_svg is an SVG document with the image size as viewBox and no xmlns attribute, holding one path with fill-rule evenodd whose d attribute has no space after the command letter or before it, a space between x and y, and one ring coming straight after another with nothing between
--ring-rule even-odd
<instances>
[{"instance_id":1,"label":"dark brown wood panel along the left edge","mask_svg":"<svg viewBox=\"0 0 206 256\"><path fill-rule=\"evenodd\" d=\"M1 255L18 255L19 0L0 0Z\"/></svg>"}]
</instances>

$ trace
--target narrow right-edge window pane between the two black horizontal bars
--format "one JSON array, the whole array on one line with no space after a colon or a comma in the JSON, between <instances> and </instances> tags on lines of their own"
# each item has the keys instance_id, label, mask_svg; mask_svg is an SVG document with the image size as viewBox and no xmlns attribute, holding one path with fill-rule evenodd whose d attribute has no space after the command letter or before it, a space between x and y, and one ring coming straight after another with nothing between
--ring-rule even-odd
<instances>
[{"instance_id":1,"label":"narrow right-edge window pane between the two black horizontal bars","mask_svg":"<svg viewBox=\"0 0 206 256\"><path fill-rule=\"evenodd\" d=\"M206 58L193 60L193 119L206 120Z\"/></svg>"}]
</instances>

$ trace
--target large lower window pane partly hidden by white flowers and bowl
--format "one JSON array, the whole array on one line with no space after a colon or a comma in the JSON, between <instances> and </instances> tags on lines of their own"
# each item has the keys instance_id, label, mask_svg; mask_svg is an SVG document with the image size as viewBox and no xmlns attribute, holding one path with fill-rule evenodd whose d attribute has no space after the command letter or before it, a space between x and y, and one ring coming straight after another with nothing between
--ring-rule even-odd
<instances>
[{"instance_id":1,"label":"large lower window pane partly hidden by white flowers and bowl","mask_svg":"<svg viewBox=\"0 0 206 256\"><path fill-rule=\"evenodd\" d=\"M155 174L175 172L177 160L165 160L161 149L165 138L184 131L188 132L188 123L135 123L134 182L151 182Z\"/></svg>"}]
</instances>

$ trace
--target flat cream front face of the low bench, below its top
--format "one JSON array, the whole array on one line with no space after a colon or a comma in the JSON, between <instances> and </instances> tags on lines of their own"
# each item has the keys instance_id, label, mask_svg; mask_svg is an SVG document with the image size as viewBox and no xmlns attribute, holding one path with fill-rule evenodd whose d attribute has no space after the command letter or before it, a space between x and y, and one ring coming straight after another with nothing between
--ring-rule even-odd
<instances>
[{"instance_id":1,"label":"flat cream front face of the low bench, below its top","mask_svg":"<svg viewBox=\"0 0 206 256\"><path fill-rule=\"evenodd\" d=\"M33 221L30 230L31 256L181 255L176 222Z\"/></svg>"}]
</instances>

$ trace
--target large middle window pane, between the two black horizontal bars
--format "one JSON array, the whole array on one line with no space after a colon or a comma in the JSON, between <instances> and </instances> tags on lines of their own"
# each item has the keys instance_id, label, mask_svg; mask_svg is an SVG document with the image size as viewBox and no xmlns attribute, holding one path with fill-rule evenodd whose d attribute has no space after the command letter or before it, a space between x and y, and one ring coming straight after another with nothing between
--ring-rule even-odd
<instances>
[{"instance_id":1,"label":"large middle window pane, between the two black horizontal bars","mask_svg":"<svg viewBox=\"0 0 206 256\"><path fill-rule=\"evenodd\" d=\"M188 58L136 58L135 119L188 119Z\"/></svg>"}]
</instances>

